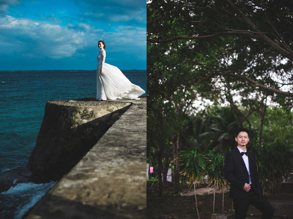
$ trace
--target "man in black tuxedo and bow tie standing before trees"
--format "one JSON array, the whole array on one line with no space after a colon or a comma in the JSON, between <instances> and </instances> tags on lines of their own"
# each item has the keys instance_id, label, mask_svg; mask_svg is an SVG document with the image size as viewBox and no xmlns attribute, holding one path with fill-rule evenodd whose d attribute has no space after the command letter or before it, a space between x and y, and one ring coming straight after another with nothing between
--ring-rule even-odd
<instances>
[{"instance_id":1,"label":"man in black tuxedo and bow tie standing before trees","mask_svg":"<svg viewBox=\"0 0 293 219\"><path fill-rule=\"evenodd\" d=\"M225 177L231 184L229 197L234 202L235 219L245 219L250 204L263 213L262 219L270 219L275 209L261 194L255 156L246 150L249 130L237 129L235 141L238 146L227 152L224 165Z\"/></svg>"}]
</instances>

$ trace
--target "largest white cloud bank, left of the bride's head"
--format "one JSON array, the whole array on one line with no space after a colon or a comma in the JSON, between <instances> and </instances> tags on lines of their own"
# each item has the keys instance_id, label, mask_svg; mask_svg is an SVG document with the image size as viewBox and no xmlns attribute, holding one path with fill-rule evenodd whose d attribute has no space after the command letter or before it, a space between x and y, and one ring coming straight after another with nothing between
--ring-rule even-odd
<instances>
[{"instance_id":1,"label":"largest white cloud bank, left of the bride's head","mask_svg":"<svg viewBox=\"0 0 293 219\"><path fill-rule=\"evenodd\" d=\"M9 15L0 18L0 29L1 50L7 55L63 58L90 42L84 32Z\"/></svg>"}]
</instances>

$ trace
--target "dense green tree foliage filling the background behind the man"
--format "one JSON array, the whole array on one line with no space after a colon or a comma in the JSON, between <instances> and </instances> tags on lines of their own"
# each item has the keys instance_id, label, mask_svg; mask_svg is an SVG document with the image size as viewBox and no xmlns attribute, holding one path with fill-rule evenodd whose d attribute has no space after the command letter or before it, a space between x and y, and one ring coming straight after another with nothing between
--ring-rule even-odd
<instances>
[{"instance_id":1,"label":"dense green tree foliage filling the background behind the man","mask_svg":"<svg viewBox=\"0 0 293 219\"><path fill-rule=\"evenodd\" d=\"M150 163L163 167L176 150L234 148L234 131L247 127L266 189L291 171L292 8L278 0L147 4ZM266 165L269 153L278 159Z\"/></svg>"}]
</instances>

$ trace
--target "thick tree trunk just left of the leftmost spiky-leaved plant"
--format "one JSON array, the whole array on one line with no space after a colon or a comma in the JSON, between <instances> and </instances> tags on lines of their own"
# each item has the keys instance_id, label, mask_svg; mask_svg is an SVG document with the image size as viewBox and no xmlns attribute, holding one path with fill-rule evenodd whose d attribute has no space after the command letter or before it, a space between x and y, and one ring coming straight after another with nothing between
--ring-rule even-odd
<instances>
[{"instance_id":1,"label":"thick tree trunk just left of the leftmost spiky-leaved plant","mask_svg":"<svg viewBox=\"0 0 293 219\"><path fill-rule=\"evenodd\" d=\"M173 158L174 158L174 193L181 191L180 188L180 164L178 162L179 149L180 149L180 134L172 135L172 146L173 146Z\"/></svg>"}]
</instances>

